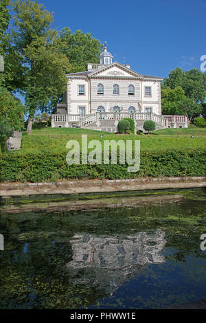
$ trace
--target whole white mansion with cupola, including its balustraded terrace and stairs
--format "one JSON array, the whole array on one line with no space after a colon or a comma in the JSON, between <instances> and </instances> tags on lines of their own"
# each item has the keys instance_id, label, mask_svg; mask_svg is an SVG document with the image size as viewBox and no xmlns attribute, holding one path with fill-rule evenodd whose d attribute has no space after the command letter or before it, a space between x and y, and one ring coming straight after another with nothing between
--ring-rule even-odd
<instances>
[{"instance_id":1,"label":"whole white mansion with cupola, including its balustraded terrace and stairs","mask_svg":"<svg viewBox=\"0 0 206 323\"><path fill-rule=\"evenodd\" d=\"M100 64L89 63L87 71L67 74L64 103L52 115L52 127L78 126L102 131L117 131L118 120L133 118L135 128L144 120L154 120L156 129L187 127L184 115L161 115L161 80L138 74L130 65L113 63L107 52Z\"/></svg>"}]
</instances>

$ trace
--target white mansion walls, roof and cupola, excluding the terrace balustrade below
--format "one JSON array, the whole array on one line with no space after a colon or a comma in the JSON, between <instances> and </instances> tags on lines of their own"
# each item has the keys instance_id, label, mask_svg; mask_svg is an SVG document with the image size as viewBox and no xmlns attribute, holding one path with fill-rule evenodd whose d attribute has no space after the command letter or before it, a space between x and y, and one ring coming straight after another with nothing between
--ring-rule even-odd
<instances>
[{"instance_id":1,"label":"white mansion walls, roof and cupola, excluding the terrace balustrade below","mask_svg":"<svg viewBox=\"0 0 206 323\"><path fill-rule=\"evenodd\" d=\"M132 71L129 65L112 63L112 58L105 47L100 55L100 64L90 63L87 71L67 74L66 102L64 106L61 104L67 114L89 115L97 112L98 108L113 112L114 107L119 107L121 112L130 109L161 115L162 78L143 76ZM58 107L57 112L65 113L65 109Z\"/></svg>"}]
</instances>

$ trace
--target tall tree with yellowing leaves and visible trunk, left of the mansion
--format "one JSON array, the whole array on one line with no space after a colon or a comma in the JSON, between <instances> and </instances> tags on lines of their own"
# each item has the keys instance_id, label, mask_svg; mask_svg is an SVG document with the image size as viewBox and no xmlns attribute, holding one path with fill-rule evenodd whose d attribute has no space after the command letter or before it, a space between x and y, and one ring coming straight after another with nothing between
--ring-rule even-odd
<instances>
[{"instance_id":1,"label":"tall tree with yellowing leaves and visible trunk, left of the mansion","mask_svg":"<svg viewBox=\"0 0 206 323\"><path fill-rule=\"evenodd\" d=\"M27 133L37 109L51 111L67 86L66 72L71 68L58 47L58 34L51 27L54 13L37 1L17 0L12 4L14 28L12 43L18 54L23 84L19 91L25 96L29 111Z\"/></svg>"}]
</instances>

